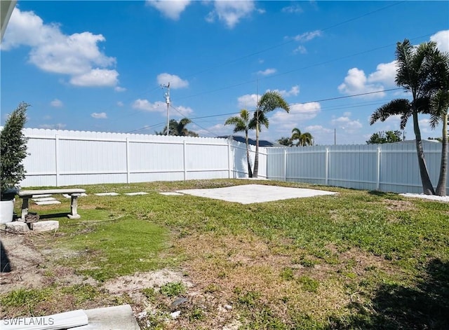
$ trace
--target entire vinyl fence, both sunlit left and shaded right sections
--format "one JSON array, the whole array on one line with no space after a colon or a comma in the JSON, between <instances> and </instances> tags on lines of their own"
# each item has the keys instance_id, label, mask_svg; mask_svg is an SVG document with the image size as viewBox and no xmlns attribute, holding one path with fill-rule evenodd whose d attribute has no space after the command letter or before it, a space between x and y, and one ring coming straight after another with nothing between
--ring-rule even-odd
<instances>
[{"instance_id":1,"label":"entire vinyl fence, both sunlit left and shaded right sections","mask_svg":"<svg viewBox=\"0 0 449 330\"><path fill-rule=\"evenodd\" d=\"M24 133L29 138L29 156L24 162L27 174L22 186L248 177L246 146L229 139L31 128ZM431 181L436 186L441 144L423 144ZM254 154L252 146L251 164ZM397 193L422 192L414 142L261 147L259 177Z\"/></svg>"}]
</instances>

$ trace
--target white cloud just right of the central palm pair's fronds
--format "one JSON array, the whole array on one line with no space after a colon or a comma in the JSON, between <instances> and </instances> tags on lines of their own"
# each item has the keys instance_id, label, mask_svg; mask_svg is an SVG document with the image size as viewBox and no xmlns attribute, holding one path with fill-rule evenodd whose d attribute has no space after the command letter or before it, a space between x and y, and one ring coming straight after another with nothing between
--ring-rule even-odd
<instances>
[{"instance_id":1,"label":"white cloud just right of the central palm pair's fronds","mask_svg":"<svg viewBox=\"0 0 449 330\"><path fill-rule=\"evenodd\" d=\"M298 123L308 121L316 117L321 111L321 104L318 102L300 103L290 105L290 112L283 110L274 112L269 118L270 125L281 125L283 129L292 130Z\"/></svg>"}]
</instances>

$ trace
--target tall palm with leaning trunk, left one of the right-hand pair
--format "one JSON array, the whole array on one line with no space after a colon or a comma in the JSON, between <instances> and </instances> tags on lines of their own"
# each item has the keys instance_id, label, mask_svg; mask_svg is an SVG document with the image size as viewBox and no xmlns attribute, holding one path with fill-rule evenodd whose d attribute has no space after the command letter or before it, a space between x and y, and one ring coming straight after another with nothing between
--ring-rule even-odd
<instances>
[{"instance_id":1,"label":"tall palm with leaning trunk, left one of the right-hand pair","mask_svg":"<svg viewBox=\"0 0 449 330\"><path fill-rule=\"evenodd\" d=\"M431 78L434 66L431 61L436 51L434 42L421 43L415 48L407 39L396 44L396 85L402 86L411 93L412 99L394 99L378 108L370 117L370 124L376 121L385 121L389 116L401 116L401 130L406 127L408 118L413 118L413 130L420 167L422 190L426 195L434 195L431 184L424 149L422 148L421 130L418 123L418 114L429 114L430 96L435 88L435 81Z\"/></svg>"}]
</instances>

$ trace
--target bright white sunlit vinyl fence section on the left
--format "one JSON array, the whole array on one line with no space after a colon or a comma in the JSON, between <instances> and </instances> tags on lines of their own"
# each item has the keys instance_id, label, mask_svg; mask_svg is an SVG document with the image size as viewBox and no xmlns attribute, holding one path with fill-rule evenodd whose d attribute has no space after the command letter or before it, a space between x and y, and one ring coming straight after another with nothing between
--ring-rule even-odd
<instances>
[{"instance_id":1,"label":"bright white sunlit vinyl fence section on the left","mask_svg":"<svg viewBox=\"0 0 449 330\"><path fill-rule=\"evenodd\" d=\"M246 147L228 139L25 129L22 186L245 177ZM262 151L263 152L263 151ZM260 155L261 177L266 161Z\"/></svg>"}]
</instances>

